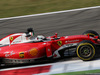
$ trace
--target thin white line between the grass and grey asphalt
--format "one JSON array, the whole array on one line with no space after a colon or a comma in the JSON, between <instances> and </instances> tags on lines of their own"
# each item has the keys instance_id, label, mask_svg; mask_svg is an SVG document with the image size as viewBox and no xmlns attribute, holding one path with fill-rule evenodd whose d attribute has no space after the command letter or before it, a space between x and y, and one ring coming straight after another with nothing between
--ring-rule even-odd
<instances>
[{"instance_id":1,"label":"thin white line between the grass and grey asphalt","mask_svg":"<svg viewBox=\"0 0 100 75\"><path fill-rule=\"evenodd\" d=\"M79 8L79 9L72 9L72 10L64 10L64 11L56 11L56 12L49 12L49 13L41 13L41 14L33 14L33 15L25 15L25 16L16 16L16 17L9 17L9 18L1 18L0 20L9 20L9 19L17 19L17 18L25 18L25 17L33 17L33 16L58 14L58 13L65 13L65 12L72 12L72 11L95 9L95 8L100 8L100 6L87 7L87 8Z\"/></svg>"}]
</instances>

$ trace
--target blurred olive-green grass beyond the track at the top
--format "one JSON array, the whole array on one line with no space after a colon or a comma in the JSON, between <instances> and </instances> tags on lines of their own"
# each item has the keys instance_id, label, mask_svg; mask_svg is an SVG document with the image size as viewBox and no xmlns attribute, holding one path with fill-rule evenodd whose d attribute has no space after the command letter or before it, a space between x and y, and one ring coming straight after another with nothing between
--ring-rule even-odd
<instances>
[{"instance_id":1,"label":"blurred olive-green grass beyond the track at the top","mask_svg":"<svg viewBox=\"0 0 100 75\"><path fill-rule=\"evenodd\" d=\"M100 0L0 0L0 18L99 5Z\"/></svg>"}]
</instances>

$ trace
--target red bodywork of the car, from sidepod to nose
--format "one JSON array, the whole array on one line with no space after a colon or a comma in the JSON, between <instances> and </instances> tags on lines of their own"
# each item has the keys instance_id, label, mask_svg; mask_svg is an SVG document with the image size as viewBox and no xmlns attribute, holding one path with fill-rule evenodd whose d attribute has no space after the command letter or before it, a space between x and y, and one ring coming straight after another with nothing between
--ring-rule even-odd
<instances>
[{"instance_id":1,"label":"red bodywork of the car, from sidepod to nose","mask_svg":"<svg viewBox=\"0 0 100 75\"><path fill-rule=\"evenodd\" d=\"M49 40L48 40L49 39ZM40 42L19 43L0 47L0 58L6 59L39 59L43 57L56 57L54 54L60 47L67 44L80 43L83 40L90 40L94 44L99 44L97 37L86 35L55 36L47 37Z\"/></svg>"}]
</instances>

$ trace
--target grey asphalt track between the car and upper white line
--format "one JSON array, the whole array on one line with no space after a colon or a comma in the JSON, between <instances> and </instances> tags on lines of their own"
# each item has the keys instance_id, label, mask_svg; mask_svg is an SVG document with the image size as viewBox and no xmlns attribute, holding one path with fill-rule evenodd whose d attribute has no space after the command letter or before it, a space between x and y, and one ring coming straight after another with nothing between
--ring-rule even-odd
<instances>
[{"instance_id":1,"label":"grey asphalt track between the car and upper white line","mask_svg":"<svg viewBox=\"0 0 100 75\"><path fill-rule=\"evenodd\" d=\"M100 32L100 8L0 20L0 39L11 33L26 32L30 27L36 35L44 36L55 32L59 36L78 35L86 30Z\"/></svg>"}]
</instances>

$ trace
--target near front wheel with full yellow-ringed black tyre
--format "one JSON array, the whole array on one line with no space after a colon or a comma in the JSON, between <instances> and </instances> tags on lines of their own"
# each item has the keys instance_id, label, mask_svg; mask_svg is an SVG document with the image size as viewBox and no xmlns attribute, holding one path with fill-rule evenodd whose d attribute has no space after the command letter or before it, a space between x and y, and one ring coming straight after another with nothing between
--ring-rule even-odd
<instances>
[{"instance_id":1,"label":"near front wheel with full yellow-ringed black tyre","mask_svg":"<svg viewBox=\"0 0 100 75\"><path fill-rule=\"evenodd\" d=\"M83 61L89 61L95 57L96 47L91 41L84 40L78 44L76 53Z\"/></svg>"}]
</instances>

